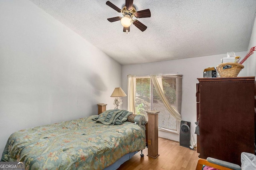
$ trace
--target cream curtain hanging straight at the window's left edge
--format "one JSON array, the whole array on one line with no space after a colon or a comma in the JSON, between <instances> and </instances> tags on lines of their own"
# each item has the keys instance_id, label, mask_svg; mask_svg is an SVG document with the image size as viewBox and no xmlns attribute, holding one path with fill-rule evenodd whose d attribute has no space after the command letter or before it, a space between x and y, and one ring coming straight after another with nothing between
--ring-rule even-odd
<instances>
[{"instance_id":1,"label":"cream curtain hanging straight at the window's left edge","mask_svg":"<svg viewBox=\"0 0 256 170\"><path fill-rule=\"evenodd\" d=\"M128 111L136 114L135 109L136 76L128 75Z\"/></svg>"}]
</instances>

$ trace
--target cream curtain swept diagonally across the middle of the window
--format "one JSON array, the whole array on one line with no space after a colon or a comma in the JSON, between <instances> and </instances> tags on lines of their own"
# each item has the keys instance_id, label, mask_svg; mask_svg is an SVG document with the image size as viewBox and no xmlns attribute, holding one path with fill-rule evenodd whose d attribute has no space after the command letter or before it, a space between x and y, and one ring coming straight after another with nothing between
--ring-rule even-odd
<instances>
[{"instance_id":1,"label":"cream curtain swept diagonally across the middle of the window","mask_svg":"<svg viewBox=\"0 0 256 170\"><path fill-rule=\"evenodd\" d=\"M163 84L162 84L162 76L161 75L150 75L151 80L156 88L156 92L158 93L159 97L163 101L167 110L177 119L177 121L181 121L181 115L174 109L168 100L166 99L163 91Z\"/></svg>"}]
</instances>

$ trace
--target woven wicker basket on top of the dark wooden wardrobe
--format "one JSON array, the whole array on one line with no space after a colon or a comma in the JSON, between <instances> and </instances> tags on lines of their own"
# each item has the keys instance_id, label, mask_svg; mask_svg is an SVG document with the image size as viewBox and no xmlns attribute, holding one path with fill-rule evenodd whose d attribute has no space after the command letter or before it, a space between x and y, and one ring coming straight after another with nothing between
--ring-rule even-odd
<instances>
[{"instance_id":1,"label":"woven wicker basket on top of the dark wooden wardrobe","mask_svg":"<svg viewBox=\"0 0 256 170\"><path fill-rule=\"evenodd\" d=\"M232 65L231 68L223 69L226 65ZM238 73L243 69L244 66L238 63L221 63L219 64L216 69L220 74L220 77L237 77Z\"/></svg>"}]
</instances>

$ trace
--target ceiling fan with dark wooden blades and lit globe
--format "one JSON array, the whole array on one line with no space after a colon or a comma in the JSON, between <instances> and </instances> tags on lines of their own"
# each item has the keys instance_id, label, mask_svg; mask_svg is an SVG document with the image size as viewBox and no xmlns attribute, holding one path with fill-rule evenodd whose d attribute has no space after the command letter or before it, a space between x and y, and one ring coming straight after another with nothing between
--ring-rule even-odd
<instances>
[{"instance_id":1,"label":"ceiling fan with dark wooden blades and lit globe","mask_svg":"<svg viewBox=\"0 0 256 170\"><path fill-rule=\"evenodd\" d=\"M150 10L141 10L141 11L136 11L136 8L132 5L133 0L126 0L125 1L125 6L122 8L118 8L114 4L112 4L110 1L107 1L106 4L116 10L119 13L122 13L124 17L116 16L113 18L108 18L109 22L115 22L121 20L121 24L124 27L123 32L130 32L130 25L136 26L138 29L140 29L142 32L147 29L147 26L139 22L138 20L133 20L133 17L136 18L148 18L151 16Z\"/></svg>"}]
</instances>

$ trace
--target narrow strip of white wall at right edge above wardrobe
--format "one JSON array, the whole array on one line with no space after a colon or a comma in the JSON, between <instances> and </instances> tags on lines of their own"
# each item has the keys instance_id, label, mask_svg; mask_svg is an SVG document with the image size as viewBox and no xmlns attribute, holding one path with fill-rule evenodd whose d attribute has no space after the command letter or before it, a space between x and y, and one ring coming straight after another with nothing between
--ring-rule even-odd
<instances>
[{"instance_id":1,"label":"narrow strip of white wall at right edge above wardrobe","mask_svg":"<svg viewBox=\"0 0 256 170\"><path fill-rule=\"evenodd\" d=\"M256 46L256 18L254 21L254 27L252 29L252 36L248 46L248 52L251 47ZM256 51L245 61L248 65L248 76L256 76Z\"/></svg>"}]
</instances>

